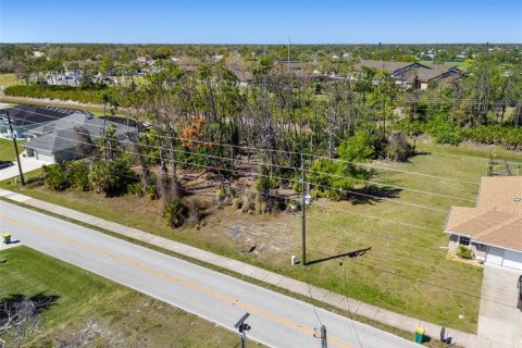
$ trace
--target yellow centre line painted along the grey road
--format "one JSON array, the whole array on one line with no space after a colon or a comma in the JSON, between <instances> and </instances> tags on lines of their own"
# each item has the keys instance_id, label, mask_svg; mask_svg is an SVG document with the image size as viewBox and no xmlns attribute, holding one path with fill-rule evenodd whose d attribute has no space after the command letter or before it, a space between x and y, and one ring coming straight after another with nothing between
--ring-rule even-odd
<instances>
[{"instance_id":1,"label":"yellow centre line painted along the grey road","mask_svg":"<svg viewBox=\"0 0 522 348\"><path fill-rule=\"evenodd\" d=\"M244 301L239 301L237 299L234 299L232 297L228 297L224 294L220 294L217 291L214 291L214 290L211 290L211 289L208 289L201 285L198 285L198 284L195 284L195 283L191 283L191 282L188 282L188 281L185 281L185 279L182 279L182 278L178 278L178 277L175 277L169 273L165 273L163 271L159 271L159 270L156 270L156 269L152 269L148 265L145 265L142 263L139 263L137 261L133 261L133 260L129 260L125 257L122 257L122 256L119 256L119 254L115 254L113 252L109 252L109 251L105 251L103 249L100 249L100 248L97 248L97 247L92 247L88 244L85 244L85 243L82 243L82 241L77 241L73 238L70 238L70 237L65 237L65 236L62 236L58 233L54 233L48 228L45 228L45 227L41 227L41 226L37 226L37 225L34 225L34 224L30 224L30 223L26 223L26 222L23 222L23 221L20 221L20 220L16 220L16 219L13 219L13 217L10 217L10 216L5 216L3 214L0 214L0 217L2 220L5 220L5 221L10 221L16 225L20 225L20 226L25 226L38 234L44 234L44 235L47 235L47 236L50 236L52 238L55 238L55 239L61 239L63 241L66 241L71 245L74 245L74 246L77 246L79 248L83 248L83 249L86 249L86 250L89 250L91 252L95 252L95 253L98 253L98 254L102 254L107 258L110 258L112 260L115 260L120 263L124 263L124 264L127 264L134 269L138 269L138 270L141 270L146 273L149 273L149 274L152 274L152 275L156 275L156 276L159 276L159 277L162 277L162 278L165 278L165 279L169 279L171 282L174 282L174 283L177 283L179 285L183 285L187 288L190 288L192 290L196 290L198 293L201 293L201 294L204 294L204 295L208 295L214 299L217 299L217 300L221 300L223 302L226 302L226 303L229 303L229 304L233 304L233 306L236 306L236 307L240 307L249 312L252 312L252 313L256 313L256 314L259 314L265 319L269 319L270 321L273 321L275 323L278 323L278 324L283 324L285 326L288 326L290 328L294 328L295 331L298 331L298 332L301 332L301 333L304 333L307 335L310 335L312 336L314 334L314 331L311 330L311 328L308 328L308 327L302 327L301 325L288 320L288 319L285 319L283 316L279 316L279 315L276 315L276 314L273 314L271 312L268 312L261 308L258 308L256 306L252 306L252 304L249 304L247 302L244 302ZM336 339L332 336L328 336L328 343L330 344L333 344L334 346L336 347L339 347L339 348L351 348L350 346L348 346L347 344L345 344L343 340L340 339Z\"/></svg>"}]
</instances>

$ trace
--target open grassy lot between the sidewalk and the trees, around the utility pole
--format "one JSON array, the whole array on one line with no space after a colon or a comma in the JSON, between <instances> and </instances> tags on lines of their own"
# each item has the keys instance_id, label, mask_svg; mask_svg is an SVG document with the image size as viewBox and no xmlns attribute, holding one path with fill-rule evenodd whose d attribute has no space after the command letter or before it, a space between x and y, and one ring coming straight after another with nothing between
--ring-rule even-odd
<instances>
[{"instance_id":1,"label":"open grassy lot between the sidewalk and the trees, around the utility pole","mask_svg":"<svg viewBox=\"0 0 522 348\"><path fill-rule=\"evenodd\" d=\"M36 184L23 192L247 261L395 312L475 332L482 269L447 260L443 248L448 245L448 236L442 231L451 206L474 204L492 150L511 161L522 162L522 154L490 147L428 142L418 142L417 148L421 153L408 163L375 164L471 183L378 171L375 182L419 191L399 190L395 192L397 198L381 201L315 201L307 213L309 261L369 247L371 250L361 257L318 262L306 269L289 265L291 254L300 256L297 215L249 215L225 207L213 209L197 226L173 232L163 225L159 201L132 196L100 199L94 192L72 190L52 192ZM14 187L14 182L0 186L22 190ZM323 208L319 209L320 206ZM235 227L243 232L238 245L232 237ZM238 252L252 246L254 252Z\"/></svg>"}]
</instances>

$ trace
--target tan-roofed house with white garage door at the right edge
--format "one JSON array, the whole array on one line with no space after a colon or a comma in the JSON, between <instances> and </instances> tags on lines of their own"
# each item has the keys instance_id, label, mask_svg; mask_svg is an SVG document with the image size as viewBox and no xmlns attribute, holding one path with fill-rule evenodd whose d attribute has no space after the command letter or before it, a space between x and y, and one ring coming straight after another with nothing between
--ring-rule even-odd
<instances>
[{"instance_id":1,"label":"tan-roofed house with white garage door at the right edge","mask_svg":"<svg viewBox=\"0 0 522 348\"><path fill-rule=\"evenodd\" d=\"M471 248L480 261L522 270L522 176L481 181L475 208L451 207L449 248Z\"/></svg>"}]
</instances>

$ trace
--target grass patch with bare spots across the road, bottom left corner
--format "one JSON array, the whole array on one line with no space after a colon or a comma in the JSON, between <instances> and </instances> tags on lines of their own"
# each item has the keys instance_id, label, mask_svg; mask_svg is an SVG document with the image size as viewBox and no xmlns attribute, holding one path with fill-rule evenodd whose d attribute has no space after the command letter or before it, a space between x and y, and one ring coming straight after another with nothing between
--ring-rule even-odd
<instances>
[{"instance_id":1,"label":"grass patch with bare spots across the road, bottom left corner","mask_svg":"<svg viewBox=\"0 0 522 348\"><path fill-rule=\"evenodd\" d=\"M1 251L3 258L0 300L57 297L42 312L40 333L23 347L71 340L88 323L99 332L88 347L238 347L233 332L27 247Z\"/></svg>"}]
</instances>

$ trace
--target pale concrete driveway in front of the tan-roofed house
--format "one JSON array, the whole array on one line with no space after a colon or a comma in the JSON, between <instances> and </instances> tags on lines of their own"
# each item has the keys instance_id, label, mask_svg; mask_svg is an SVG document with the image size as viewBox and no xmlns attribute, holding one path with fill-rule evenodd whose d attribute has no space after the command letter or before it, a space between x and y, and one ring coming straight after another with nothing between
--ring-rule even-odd
<instances>
[{"instance_id":1,"label":"pale concrete driveway in front of the tan-roofed house","mask_svg":"<svg viewBox=\"0 0 522 348\"><path fill-rule=\"evenodd\" d=\"M478 336L492 348L522 348L522 312L517 309L517 279L522 271L486 264L478 312Z\"/></svg>"}]
</instances>

